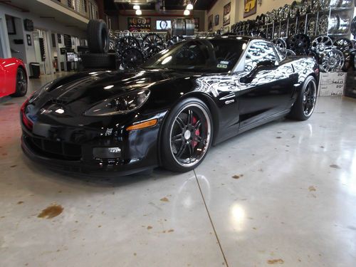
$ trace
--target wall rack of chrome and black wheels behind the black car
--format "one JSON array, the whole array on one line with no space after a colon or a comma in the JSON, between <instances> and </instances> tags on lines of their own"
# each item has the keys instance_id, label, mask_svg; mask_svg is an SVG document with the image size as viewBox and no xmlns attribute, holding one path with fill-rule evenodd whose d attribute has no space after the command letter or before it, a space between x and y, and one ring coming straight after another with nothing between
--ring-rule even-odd
<instances>
[{"instance_id":1,"label":"wall rack of chrome and black wheels behind the black car","mask_svg":"<svg viewBox=\"0 0 356 267\"><path fill-rule=\"evenodd\" d=\"M231 26L238 35L258 34L281 52L314 56L325 72L355 68L356 17L352 0L303 0ZM288 50L288 51L287 51Z\"/></svg>"}]
</instances>

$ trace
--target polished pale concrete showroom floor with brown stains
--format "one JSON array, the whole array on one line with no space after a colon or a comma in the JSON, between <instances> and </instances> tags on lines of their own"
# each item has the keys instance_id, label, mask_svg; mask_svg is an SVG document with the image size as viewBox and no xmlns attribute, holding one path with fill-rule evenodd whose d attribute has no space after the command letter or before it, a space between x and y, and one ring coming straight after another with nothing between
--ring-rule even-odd
<instances>
[{"instance_id":1,"label":"polished pale concrete showroom floor with brown stains","mask_svg":"<svg viewBox=\"0 0 356 267\"><path fill-rule=\"evenodd\" d=\"M24 100L0 100L0 266L356 266L355 99L318 98L194 172L115 179L26 159Z\"/></svg>"}]
</instances>

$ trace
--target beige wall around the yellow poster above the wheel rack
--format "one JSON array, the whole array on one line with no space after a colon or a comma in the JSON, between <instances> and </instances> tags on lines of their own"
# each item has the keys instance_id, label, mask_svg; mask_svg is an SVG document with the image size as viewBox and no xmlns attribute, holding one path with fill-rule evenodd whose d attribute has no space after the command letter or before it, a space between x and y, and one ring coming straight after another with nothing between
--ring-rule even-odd
<instances>
[{"instance_id":1,"label":"beige wall around the yellow poster above the wheel rack","mask_svg":"<svg viewBox=\"0 0 356 267\"><path fill-rule=\"evenodd\" d=\"M239 7L236 9L236 21L246 21L247 19L256 19L256 16L261 14L266 14L268 11L272 11L272 9L278 9L285 4L292 4L294 0L262 0L261 6L257 4L256 14L249 16L244 19L244 0L236 0L237 6Z\"/></svg>"}]
</instances>

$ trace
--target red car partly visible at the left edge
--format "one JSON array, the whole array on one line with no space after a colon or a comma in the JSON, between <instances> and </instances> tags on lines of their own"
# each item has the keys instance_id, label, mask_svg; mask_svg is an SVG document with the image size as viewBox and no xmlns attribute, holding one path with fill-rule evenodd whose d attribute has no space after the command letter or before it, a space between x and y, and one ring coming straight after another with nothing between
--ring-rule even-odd
<instances>
[{"instance_id":1,"label":"red car partly visible at the left edge","mask_svg":"<svg viewBox=\"0 0 356 267\"><path fill-rule=\"evenodd\" d=\"M0 98L5 95L23 96L27 93L27 74L18 58L0 58Z\"/></svg>"}]
</instances>

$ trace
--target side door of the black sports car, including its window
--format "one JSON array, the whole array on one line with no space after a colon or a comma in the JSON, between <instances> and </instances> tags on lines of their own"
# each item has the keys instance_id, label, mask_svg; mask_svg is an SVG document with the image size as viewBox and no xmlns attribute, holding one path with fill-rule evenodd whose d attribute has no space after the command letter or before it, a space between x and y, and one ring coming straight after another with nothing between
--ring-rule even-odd
<instances>
[{"instance_id":1,"label":"side door of the black sports car, including its window","mask_svg":"<svg viewBox=\"0 0 356 267\"><path fill-rule=\"evenodd\" d=\"M275 61L276 64L255 69L257 63L263 61ZM273 45L265 41L250 44L246 51L245 70L256 70L256 73L251 80L239 80L240 128L286 110L298 77L293 73L293 66L280 64Z\"/></svg>"}]
</instances>

